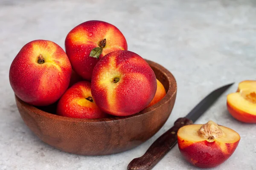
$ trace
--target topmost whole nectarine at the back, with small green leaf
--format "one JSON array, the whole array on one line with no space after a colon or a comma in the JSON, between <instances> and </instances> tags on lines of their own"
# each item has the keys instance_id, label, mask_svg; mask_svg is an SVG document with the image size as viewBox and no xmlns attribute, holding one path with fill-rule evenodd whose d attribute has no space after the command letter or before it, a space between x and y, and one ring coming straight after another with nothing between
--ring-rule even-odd
<instances>
[{"instance_id":1,"label":"topmost whole nectarine at the back, with small green leaf","mask_svg":"<svg viewBox=\"0 0 256 170\"><path fill-rule=\"evenodd\" d=\"M91 80L93 68L99 59L90 57L90 51L99 47L99 42L106 39L100 58L116 50L127 50L127 42L118 28L110 23L90 20L73 28L66 37L65 49L72 68L83 79Z\"/></svg>"}]
</instances>

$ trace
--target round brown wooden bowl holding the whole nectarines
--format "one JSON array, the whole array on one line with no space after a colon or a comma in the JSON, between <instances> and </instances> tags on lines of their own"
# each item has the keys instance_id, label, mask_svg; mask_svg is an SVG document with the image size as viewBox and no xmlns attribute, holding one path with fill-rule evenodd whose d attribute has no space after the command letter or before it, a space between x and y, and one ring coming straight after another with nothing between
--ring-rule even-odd
<instances>
[{"instance_id":1,"label":"round brown wooden bowl holding the whole nectarines","mask_svg":"<svg viewBox=\"0 0 256 170\"><path fill-rule=\"evenodd\" d=\"M166 96L140 113L104 119L76 119L55 115L56 104L39 109L15 96L17 108L30 130L59 150L79 155L108 155L129 150L160 130L176 99L174 76L163 66L146 61L164 85Z\"/></svg>"}]
</instances>

